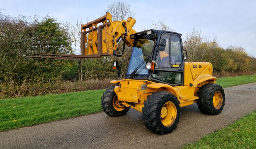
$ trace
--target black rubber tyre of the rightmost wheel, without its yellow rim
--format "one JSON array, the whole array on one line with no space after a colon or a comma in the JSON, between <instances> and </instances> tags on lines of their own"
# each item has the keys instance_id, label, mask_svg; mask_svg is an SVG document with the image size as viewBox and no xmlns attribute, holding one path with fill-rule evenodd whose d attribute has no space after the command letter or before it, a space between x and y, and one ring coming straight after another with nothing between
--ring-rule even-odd
<instances>
[{"instance_id":1,"label":"black rubber tyre of the rightmost wheel, without its yellow rim","mask_svg":"<svg viewBox=\"0 0 256 149\"><path fill-rule=\"evenodd\" d=\"M213 96L216 92L222 95L222 103L218 105L218 108L215 108L213 105ZM220 85L213 83L205 84L199 88L198 96L197 105L202 113L218 115L223 110L225 105L225 93Z\"/></svg>"}]
</instances>

